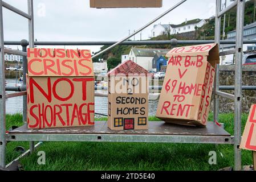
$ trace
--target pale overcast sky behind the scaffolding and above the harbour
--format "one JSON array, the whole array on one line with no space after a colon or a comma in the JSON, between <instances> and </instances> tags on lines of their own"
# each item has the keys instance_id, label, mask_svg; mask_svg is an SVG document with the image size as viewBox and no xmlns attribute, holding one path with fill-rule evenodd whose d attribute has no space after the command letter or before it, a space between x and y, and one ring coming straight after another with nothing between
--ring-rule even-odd
<instances>
[{"instance_id":1,"label":"pale overcast sky behind the scaffolding and above the harbour","mask_svg":"<svg viewBox=\"0 0 256 182\"><path fill-rule=\"evenodd\" d=\"M161 8L92 9L89 0L34 0L35 39L38 41L111 41L120 40L144 26L180 0L163 0ZM26 0L5 2L27 12ZM188 0L154 24L179 24L187 18L206 19L215 14L216 0ZM228 3L229 4L229 3ZM5 40L28 39L28 23L9 10L3 9ZM151 34L152 26L142 32L143 39ZM132 38L133 39L133 38ZM140 39L138 34L135 38ZM63 46L62 46L63 47ZM66 48L74 48L66 46ZM98 51L100 46L79 46Z\"/></svg>"}]
</instances>

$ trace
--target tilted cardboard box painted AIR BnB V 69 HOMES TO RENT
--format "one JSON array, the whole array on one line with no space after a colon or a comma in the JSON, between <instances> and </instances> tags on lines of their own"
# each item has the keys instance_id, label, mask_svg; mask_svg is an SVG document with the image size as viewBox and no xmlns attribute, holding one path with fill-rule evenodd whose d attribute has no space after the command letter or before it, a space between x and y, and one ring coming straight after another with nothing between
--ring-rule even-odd
<instances>
[{"instance_id":1,"label":"tilted cardboard box painted AIR BnB V 69 HOMES TO RENT","mask_svg":"<svg viewBox=\"0 0 256 182\"><path fill-rule=\"evenodd\" d=\"M206 126L216 64L217 44L177 47L169 59L156 117L180 125Z\"/></svg>"}]
</instances>

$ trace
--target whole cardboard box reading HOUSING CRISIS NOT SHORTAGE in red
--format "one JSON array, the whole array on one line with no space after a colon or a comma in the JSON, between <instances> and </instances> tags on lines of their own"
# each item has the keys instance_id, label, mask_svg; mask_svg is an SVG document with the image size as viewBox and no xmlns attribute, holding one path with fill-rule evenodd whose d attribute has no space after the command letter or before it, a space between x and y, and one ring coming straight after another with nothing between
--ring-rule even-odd
<instances>
[{"instance_id":1,"label":"whole cardboard box reading HOUSING CRISIS NOT SHORTAGE in red","mask_svg":"<svg viewBox=\"0 0 256 182\"><path fill-rule=\"evenodd\" d=\"M94 125L89 50L27 49L29 129Z\"/></svg>"}]
</instances>

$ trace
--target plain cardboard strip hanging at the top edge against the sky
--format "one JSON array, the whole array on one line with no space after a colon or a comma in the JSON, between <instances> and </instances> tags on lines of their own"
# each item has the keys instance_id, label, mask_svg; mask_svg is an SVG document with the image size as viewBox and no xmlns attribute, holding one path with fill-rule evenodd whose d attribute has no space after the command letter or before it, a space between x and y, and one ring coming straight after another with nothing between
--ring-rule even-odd
<instances>
[{"instance_id":1,"label":"plain cardboard strip hanging at the top edge against the sky","mask_svg":"<svg viewBox=\"0 0 256 182\"><path fill-rule=\"evenodd\" d=\"M162 0L90 0L90 7L162 7Z\"/></svg>"}]
</instances>

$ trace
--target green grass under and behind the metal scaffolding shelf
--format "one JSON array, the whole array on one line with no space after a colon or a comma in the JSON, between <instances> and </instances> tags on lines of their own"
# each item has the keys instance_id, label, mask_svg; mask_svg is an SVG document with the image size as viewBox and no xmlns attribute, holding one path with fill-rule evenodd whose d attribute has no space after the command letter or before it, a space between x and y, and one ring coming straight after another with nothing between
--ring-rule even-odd
<instances>
[{"instance_id":1,"label":"green grass under and behind the metal scaffolding shelf","mask_svg":"<svg viewBox=\"0 0 256 182\"><path fill-rule=\"evenodd\" d=\"M209 115L212 120L213 114ZM220 114L225 129L233 134L233 114ZM103 118L103 120L106 118ZM149 118L151 121L159 119ZM242 115L245 126L247 115ZM6 115L6 128L22 125L22 115ZM243 130L243 129L242 129ZM29 148L29 142L7 144L7 162L19 154L16 146ZM169 144L110 142L43 142L46 164L38 165L34 154L19 160L25 170L218 170L233 166L233 146L229 144ZM210 165L209 152L217 152L217 165ZM252 164L250 151L242 151L242 164Z\"/></svg>"}]
</instances>

